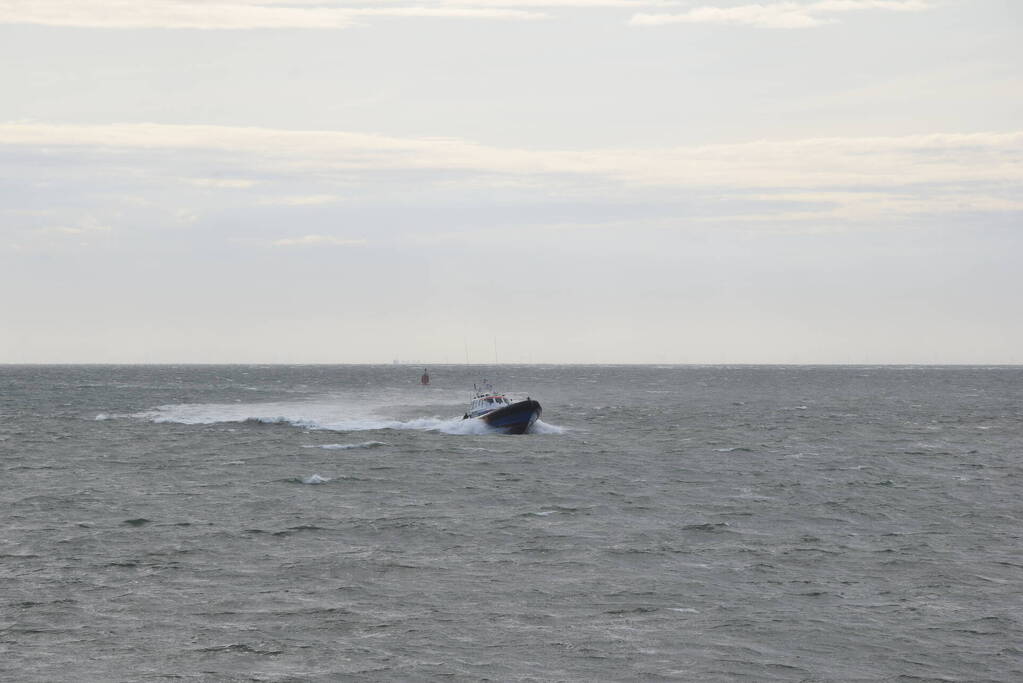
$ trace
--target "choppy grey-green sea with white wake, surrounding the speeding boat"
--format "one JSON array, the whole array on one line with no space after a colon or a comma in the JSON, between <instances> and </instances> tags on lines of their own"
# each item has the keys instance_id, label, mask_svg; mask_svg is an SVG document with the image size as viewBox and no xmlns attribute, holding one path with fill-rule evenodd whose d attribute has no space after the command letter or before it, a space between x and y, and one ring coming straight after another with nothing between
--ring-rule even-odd
<instances>
[{"instance_id":1,"label":"choppy grey-green sea with white wake, surrounding the speeding boat","mask_svg":"<svg viewBox=\"0 0 1023 683\"><path fill-rule=\"evenodd\" d=\"M0 366L0 680L1023 681L1023 367L428 369Z\"/></svg>"}]
</instances>

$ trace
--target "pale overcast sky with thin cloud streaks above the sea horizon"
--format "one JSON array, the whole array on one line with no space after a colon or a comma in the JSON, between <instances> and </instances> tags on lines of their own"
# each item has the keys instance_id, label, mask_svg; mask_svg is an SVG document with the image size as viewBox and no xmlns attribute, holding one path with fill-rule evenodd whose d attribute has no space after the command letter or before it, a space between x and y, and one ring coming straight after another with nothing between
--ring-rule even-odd
<instances>
[{"instance_id":1,"label":"pale overcast sky with thin cloud streaks above the sea horizon","mask_svg":"<svg viewBox=\"0 0 1023 683\"><path fill-rule=\"evenodd\" d=\"M0 362L1023 362L1018 0L0 0Z\"/></svg>"}]
</instances>

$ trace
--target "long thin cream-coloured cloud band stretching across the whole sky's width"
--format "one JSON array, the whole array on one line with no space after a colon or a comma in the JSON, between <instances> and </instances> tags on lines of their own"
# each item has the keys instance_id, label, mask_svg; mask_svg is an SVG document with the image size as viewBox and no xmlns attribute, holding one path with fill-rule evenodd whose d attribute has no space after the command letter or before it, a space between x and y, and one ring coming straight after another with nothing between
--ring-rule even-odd
<instances>
[{"instance_id":1,"label":"long thin cream-coloured cloud band stretching across the whole sky's width","mask_svg":"<svg viewBox=\"0 0 1023 683\"><path fill-rule=\"evenodd\" d=\"M1023 132L559 150L337 131L9 123L0 124L0 144L206 150L244 154L265 168L294 173L317 169L459 171L601 176L637 185L747 188L1023 182Z\"/></svg>"}]
</instances>

